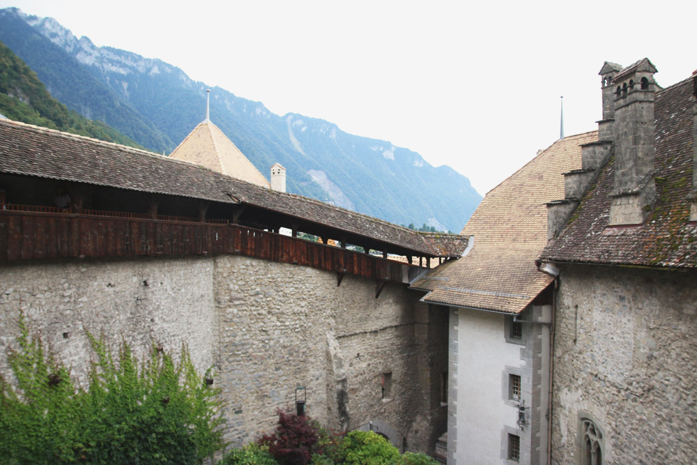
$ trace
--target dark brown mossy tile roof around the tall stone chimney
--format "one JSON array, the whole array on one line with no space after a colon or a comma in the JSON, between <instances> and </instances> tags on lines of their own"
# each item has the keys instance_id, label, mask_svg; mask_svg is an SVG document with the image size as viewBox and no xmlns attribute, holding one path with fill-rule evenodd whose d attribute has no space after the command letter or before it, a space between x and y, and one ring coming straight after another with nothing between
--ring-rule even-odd
<instances>
[{"instance_id":1,"label":"dark brown mossy tile roof around the tall stone chimney","mask_svg":"<svg viewBox=\"0 0 697 465\"><path fill-rule=\"evenodd\" d=\"M640 227L609 227L611 157L558 238L547 261L695 268L697 225L689 222L694 171L692 80L656 93L655 179L659 199ZM561 197L560 197L561 198Z\"/></svg>"}]
</instances>

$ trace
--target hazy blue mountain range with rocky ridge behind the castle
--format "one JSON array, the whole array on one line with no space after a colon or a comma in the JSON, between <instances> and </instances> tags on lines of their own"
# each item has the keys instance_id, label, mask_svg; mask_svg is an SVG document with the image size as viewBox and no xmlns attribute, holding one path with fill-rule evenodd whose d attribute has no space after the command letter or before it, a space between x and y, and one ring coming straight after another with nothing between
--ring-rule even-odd
<instances>
[{"instance_id":1,"label":"hazy blue mountain range with rocky ridge behind the castle","mask_svg":"<svg viewBox=\"0 0 697 465\"><path fill-rule=\"evenodd\" d=\"M52 96L157 153L171 153L204 119L203 82L159 59L76 38L52 18L0 10L0 41ZM279 116L219 87L210 119L268 177L286 167L287 190L398 224L459 232L482 197L454 169L433 167L390 142L348 134L322 119Z\"/></svg>"}]
</instances>

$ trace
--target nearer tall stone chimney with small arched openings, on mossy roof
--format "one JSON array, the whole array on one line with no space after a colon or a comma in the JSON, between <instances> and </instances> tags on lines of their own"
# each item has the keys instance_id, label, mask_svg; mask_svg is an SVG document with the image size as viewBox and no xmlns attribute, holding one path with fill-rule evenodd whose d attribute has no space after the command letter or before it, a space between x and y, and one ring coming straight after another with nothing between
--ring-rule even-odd
<instances>
[{"instance_id":1,"label":"nearer tall stone chimney with small arched openings, on mossy roof","mask_svg":"<svg viewBox=\"0 0 697 465\"><path fill-rule=\"evenodd\" d=\"M653 64L643 59L612 78L615 185L611 226L642 224L656 199L654 98L660 89L653 78L656 72Z\"/></svg>"}]
</instances>

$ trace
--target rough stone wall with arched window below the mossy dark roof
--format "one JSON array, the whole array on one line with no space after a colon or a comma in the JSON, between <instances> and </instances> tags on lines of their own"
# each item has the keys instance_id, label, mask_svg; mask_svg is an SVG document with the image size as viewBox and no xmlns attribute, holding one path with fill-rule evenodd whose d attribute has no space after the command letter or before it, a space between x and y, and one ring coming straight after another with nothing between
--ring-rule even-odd
<instances>
[{"instance_id":1,"label":"rough stone wall with arched window below the mossy dark roof","mask_svg":"<svg viewBox=\"0 0 697 465\"><path fill-rule=\"evenodd\" d=\"M581 462L579 418L603 463L697 456L697 273L562 269L553 365L553 463Z\"/></svg>"}]
</instances>

